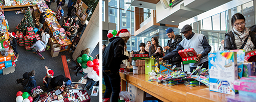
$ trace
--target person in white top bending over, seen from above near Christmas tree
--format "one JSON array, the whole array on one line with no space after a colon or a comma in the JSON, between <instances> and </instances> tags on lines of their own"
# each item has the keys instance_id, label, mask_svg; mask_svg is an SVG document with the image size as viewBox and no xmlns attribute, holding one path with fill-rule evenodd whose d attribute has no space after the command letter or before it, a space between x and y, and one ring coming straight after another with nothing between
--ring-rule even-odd
<instances>
[{"instance_id":1,"label":"person in white top bending over, seen from above near Christmas tree","mask_svg":"<svg viewBox=\"0 0 256 102\"><path fill-rule=\"evenodd\" d=\"M41 60L44 60L44 56L41 55L42 52L44 52L46 45L44 42L42 42L41 40L36 40L36 38L33 39L33 46L31 46L30 48L35 47L35 52L33 52L34 54L39 55L41 58Z\"/></svg>"}]
</instances>

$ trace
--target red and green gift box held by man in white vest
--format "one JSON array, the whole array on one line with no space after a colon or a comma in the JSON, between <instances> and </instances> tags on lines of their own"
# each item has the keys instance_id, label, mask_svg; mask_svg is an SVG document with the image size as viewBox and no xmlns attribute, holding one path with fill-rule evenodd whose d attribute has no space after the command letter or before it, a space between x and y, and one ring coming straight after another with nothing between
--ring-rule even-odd
<instances>
[{"instance_id":1,"label":"red and green gift box held by man in white vest","mask_svg":"<svg viewBox=\"0 0 256 102\"><path fill-rule=\"evenodd\" d=\"M179 55L182 58L183 64L197 63L195 59L197 58L197 52L194 48L179 50Z\"/></svg>"}]
</instances>

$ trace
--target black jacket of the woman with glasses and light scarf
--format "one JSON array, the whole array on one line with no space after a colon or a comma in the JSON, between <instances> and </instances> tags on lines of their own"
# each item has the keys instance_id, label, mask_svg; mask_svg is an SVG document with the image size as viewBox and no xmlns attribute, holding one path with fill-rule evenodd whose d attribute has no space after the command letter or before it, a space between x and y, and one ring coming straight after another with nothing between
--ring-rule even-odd
<instances>
[{"instance_id":1,"label":"black jacket of the woman with glasses and light scarf","mask_svg":"<svg viewBox=\"0 0 256 102\"><path fill-rule=\"evenodd\" d=\"M251 37L251 41L254 44L254 48L256 46L256 38L253 32L249 32L249 36ZM237 48L236 43L234 42L234 34L232 31L225 34L225 42L224 42L224 50L231 50L231 49L239 49Z\"/></svg>"}]
</instances>

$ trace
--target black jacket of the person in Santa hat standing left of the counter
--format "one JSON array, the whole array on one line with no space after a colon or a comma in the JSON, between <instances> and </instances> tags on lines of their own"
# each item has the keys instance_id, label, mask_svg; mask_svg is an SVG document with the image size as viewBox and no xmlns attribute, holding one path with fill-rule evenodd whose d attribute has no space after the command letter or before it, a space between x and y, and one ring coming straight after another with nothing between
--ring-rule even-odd
<instances>
[{"instance_id":1,"label":"black jacket of the person in Santa hat standing left of the counter","mask_svg":"<svg viewBox=\"0 0 256 102\"><path fill-rule=\"evenodd\" d=\"M102 67L118 72L122 60L129 59L124 54L124 41L120 37L110 38L110 43L105 47L102 55Z\"/></svg>"}]
</instances>

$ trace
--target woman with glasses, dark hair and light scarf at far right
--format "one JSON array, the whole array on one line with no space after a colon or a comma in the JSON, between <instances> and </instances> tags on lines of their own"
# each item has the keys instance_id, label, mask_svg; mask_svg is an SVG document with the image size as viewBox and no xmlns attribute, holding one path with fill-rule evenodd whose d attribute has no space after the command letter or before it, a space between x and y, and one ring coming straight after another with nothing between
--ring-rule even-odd
<instances>
[{"instance_id":1,"label":"woman with glasses, dark hair and light scarf at far right","mask_svg":"<svg viewBox=\"0 0 256 102\"><path fill-rule=\"evenodd\" d=\"M255 34L245 27L244 16L240 13L234 14L231 24L232 30L225 34L224 50L244 49L248 52L255 49Z\"/></svg>"}]
</instances>

